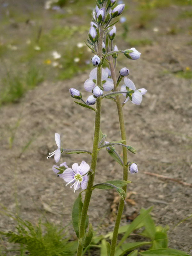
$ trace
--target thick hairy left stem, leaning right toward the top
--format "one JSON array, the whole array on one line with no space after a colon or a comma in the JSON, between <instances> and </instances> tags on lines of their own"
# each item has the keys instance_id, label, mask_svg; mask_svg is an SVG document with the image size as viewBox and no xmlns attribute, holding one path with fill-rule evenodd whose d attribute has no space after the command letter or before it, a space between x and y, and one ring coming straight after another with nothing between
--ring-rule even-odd
<instances>
[{"instance_id":1,"label":"thick hairy left stem, leaning right toward the top","mask_svg":"<svg viewBox=\"0 0 192 256\"><path fill-rule=\"evenodd\" d=\"M103 42L103 35L104 35L104 30L102 26L100 27L100 37L98 40L98 56L100 59L102 59L102 42ZM97 67L97 86L101 87L101 67ZM79 240L82 238L85 234L85 223L86 223L86 217L87 217L87 212L89 208L89 203L92 195L92 187L93 187L93 182L94 182L94 177L95 177L95 170L96 170L96 165L97 165L97 156L98 156L98 144L99 144L99 134L100 134L100 115L101 115L101 97L97 98L96 100L96 111L95 111L95 129L94 129L94 138L93 138L93 148L92 148L92 159L91 159L91 169L92 169L92 175L89 176L89 181L87 184L87 189L86 189L86 194L85 194L85 199L84 199L84 204L81 212L81 220L80 220L80 225L79 225ZM83 246L81 243L78 243L78 248L77 248L77 254L76 256L82 256L83 252Z\"/></svg>"}]
</instances>

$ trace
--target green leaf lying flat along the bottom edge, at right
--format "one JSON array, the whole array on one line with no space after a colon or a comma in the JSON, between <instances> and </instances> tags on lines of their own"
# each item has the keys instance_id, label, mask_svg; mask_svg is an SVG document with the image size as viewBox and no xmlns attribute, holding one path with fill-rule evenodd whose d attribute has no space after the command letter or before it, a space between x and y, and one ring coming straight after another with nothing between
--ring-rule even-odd
<instances>
[{"instance_id":1,"label":"green leaf lying flat along the bottom edge, at right","mask_svg":"<svg viewBox=\"0 0 192 256\"><path fill-rule=\"evenodd\" d=\"M139 252L139 254L142 256L190 256L186 252L168 248L148 250L144 252Z\"/></svg>"}]
</instances>

